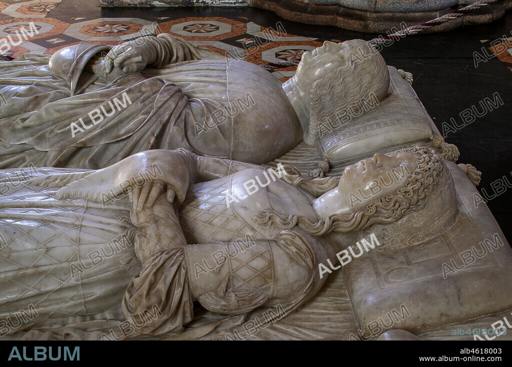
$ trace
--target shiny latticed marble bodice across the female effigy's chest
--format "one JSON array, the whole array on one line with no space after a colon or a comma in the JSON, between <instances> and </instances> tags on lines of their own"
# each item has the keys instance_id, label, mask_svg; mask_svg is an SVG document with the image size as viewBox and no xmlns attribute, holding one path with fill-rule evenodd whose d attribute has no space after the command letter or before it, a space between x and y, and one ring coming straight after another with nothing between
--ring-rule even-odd
<instances>
[{"instance_id":1,"label":"shiny latticed marble bodice across the female effigy's chest","mask_svg":"<svg viewBox=\"0 0 512 367\"><path fill-rule=\"evenodd\" d=\"M259 181L256 178L259 178ZM316 221L316 213L303 191L279 178L270 183L262 169L245 169L217 180L190 185L179 210L180 225L189 244L208 244L246 240L273 240L280 228L266 228L256 224L253 217L266 209L283 214L301 214ZM243 186L249 180L258 190ZM241 197L247 196L245 199ZM228 205L229 201L229 205Z\"/></svg>"}]
</instances>

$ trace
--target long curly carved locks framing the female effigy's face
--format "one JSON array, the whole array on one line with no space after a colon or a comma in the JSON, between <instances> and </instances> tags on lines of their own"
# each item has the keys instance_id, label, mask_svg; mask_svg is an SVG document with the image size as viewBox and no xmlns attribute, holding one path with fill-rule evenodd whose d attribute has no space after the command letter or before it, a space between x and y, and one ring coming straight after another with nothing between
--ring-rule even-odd
<instances>
[{"instance_id":1,"label":"long curly carved locks framing the female effigy's face","mask_svg":"<svg viewBox=\"0 0 512 367\"><path fill-rule=\"evenodd\" d=\"M331 231L358 231L373 224L388 224L402 218L408 212L421 208L425 198L433 195L439 185L447 180L447 168L435 150L424 147L400 149L399 152L412 152L418 159L416 169L397 191L373 200L365 208L350 214L332 214L324 220L311 223L302 215L283 215L275 210L265 210L254 221L263 226L275 225L283 229L299 226L308 233L321 236ZM282 177L283 179L283 177ZM305 179L303 179L306 181ZM316 195L327 187L336 187L339 177L327 177L322 182L311 183L307 188L298 178L286 178L285 181L298 183L298 186ZM314 180L311 180L314 181ZM325 191L327 192L327 191Z\"/></svg>"}]
</instances>

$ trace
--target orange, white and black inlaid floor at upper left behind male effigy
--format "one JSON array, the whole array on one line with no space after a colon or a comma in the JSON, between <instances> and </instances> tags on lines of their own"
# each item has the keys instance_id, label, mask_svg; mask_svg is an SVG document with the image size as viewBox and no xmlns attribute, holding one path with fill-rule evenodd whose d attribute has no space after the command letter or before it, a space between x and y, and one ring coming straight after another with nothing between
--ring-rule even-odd
<instances>
[{"instance_id":1,"label":"orange, white and black inlaid floor at upper left behind male effigy","mask_svg":"<svg viewBox=\"0 0 512 367\"><path fill-rule=\"evenodd\" d=\"M70 4L75 6L65 7ZM260 64L300 58L304 51L313 50L324 41L288 34L281 23L274 27L261 27L245 17L106 18L95 17L95 13L100 15L99 8L88 7L80 12L81 6L83 3L76 0L0 1L0 53L11 57L24 53L53 54L81 41L118 45L141 35L170 33L217 53ZM23 35L21 28L32 35ZM18 44L19 40L22 42ZM293 75L294 69L283 68L274 73L284 81Z\"/></svg>"}]
</instances>

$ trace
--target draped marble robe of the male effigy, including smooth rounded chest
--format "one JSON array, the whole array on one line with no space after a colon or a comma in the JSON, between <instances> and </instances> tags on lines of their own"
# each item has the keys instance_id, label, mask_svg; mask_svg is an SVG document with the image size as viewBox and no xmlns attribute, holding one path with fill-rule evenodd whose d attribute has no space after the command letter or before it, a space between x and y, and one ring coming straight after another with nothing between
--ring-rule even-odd
<instances>
[{"instance_id":1,"label":"draped marble robe of the male effigy, including smooth rounded chest","mask_svg":"<svg viewBox=\"0 0 512 367\"><path fill-rule=\"evenodd\" d=\"M186 41L180 45L196 56L168 63L178 41L170 35L152 38L161 46L157 64L141 73L121 72L114 80L99 68L96 80L79 87L75 84L87 79L87 72L69 78L62 68L52 72L49 55L0 62L0 168L97 169L143 150L180 147L265 163L301 140L293 107L270 73L185 47ZM100 63L91 53L108 49L92 45L87 49L92 52L80 54L91 60L81 61ZM76 60L86 57L80 55Z\"/></svg>"}]
</instances>

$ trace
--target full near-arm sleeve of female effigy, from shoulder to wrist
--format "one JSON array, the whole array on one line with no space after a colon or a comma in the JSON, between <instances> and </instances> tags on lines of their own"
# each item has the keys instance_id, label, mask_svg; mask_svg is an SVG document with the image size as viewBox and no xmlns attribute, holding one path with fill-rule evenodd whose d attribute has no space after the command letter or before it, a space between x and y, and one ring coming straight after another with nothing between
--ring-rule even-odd
<instances>
[{"instance_id":1,"label":"full near-arm sleeve of female effigy, from shoulder to wrist","mask_svg":"<svg viewBox=\"0 0 512 367\"><path fill-rule=\"evenodd\" d=\"M246 241L187 245L173 207L163 198L142 212L132 211L132 221L139 227L135 251L143 265L126 289L122 310L140 334L180 331L193 318L195 296L204 308L222 314L247 313L264 305L274 287L292 286L288 277L276 278L276 264L304 275L301 285L283 299L289 312L313 289L312 246L324 251L316 241L310 244L307 235L290 230L282 231L275 241L247 237ZM218 261L217 266L198 272L197 265L211 258ZM223 279L219 288L211 289L209 285L218 278Z\"/></svg>"}]
</instances>

